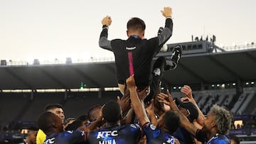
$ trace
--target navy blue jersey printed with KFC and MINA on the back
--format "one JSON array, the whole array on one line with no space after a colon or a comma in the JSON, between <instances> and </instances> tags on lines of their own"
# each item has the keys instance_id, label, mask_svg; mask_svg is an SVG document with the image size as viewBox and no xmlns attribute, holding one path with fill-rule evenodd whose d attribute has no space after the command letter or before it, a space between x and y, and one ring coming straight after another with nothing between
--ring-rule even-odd
<instances>
[{"instance_id":1,"label":"navy blue jersey printed with KFC and MINA on the back","mask_svg":"<svg viewBox=\"0 0 256 144\"><path fill-rule=\"evenodd\" d=\"M100 128L91 131L90 144L131 144L141 138L141 128L137 124Z\"/></svg>"}]
</instances>

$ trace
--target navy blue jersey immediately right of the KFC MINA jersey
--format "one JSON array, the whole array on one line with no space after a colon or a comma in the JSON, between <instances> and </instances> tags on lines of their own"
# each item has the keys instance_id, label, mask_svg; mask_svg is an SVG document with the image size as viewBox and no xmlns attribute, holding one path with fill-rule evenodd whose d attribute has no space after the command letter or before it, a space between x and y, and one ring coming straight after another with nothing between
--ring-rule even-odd
<instances>
[{"instance_id":1,"label":"navy blue jersey immediately right of the KFC MINA jersey","mask_svg":"<svg viewBox=\"0 0 256 144\"><path fill-rule=\"evenodd\" d=\"M146 123L143 126L143 131L146 135L147 144L161 144L161 143L171 143L174 144L174 137L165 133L160 128L156 128L152 123Z\"/></svg>"}]
</instances>

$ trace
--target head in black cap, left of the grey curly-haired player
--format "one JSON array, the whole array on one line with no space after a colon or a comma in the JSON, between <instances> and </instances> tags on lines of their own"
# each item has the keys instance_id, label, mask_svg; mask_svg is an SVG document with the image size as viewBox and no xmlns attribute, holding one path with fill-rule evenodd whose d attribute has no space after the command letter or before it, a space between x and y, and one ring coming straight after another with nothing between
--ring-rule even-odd
<instances>
[{"instance_id":1,"label":"head in black cap, left of the grey curly-haired player","mask_svg":"<svg viewBox=\"0 0 256 144\"><path fill-rule=\"evenodd\" d=\"M178 109L185 115L190 122L198 118L198 109L189 101L175 99Z\"/></svg>"}]
</instances>

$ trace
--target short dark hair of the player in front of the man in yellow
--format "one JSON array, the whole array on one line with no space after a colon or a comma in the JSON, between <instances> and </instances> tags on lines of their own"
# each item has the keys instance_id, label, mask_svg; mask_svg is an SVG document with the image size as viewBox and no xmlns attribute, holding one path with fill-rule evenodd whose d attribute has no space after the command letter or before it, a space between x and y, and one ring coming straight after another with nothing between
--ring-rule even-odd
<instances>
[{"instance_id":1,"label":"short dark hair of the player in front of the man in yellow","mask_svg":"<svg viewBox=\"0 0 256 144\"><path fill-rule=\"evenodd\" d=\"M51 113L50 111L41 113L37 119L38 128L40 128L44 133L49 131L49 128L53 123L54 116L56 115L54 113Z\"/></svg>"}]
</instances>

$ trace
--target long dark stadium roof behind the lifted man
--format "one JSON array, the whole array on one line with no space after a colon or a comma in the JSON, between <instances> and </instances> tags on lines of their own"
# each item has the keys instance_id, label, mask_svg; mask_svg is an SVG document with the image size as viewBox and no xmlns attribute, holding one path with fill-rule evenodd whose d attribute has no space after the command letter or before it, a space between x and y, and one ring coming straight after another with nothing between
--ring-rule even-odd
<instances>
[{"instance_id":1,"label":"long dark stadium roof behind the lifted man","mask_svg":"<svg viewBox=\"0 0 256 144\"><path fill-rule=\"evenodd\" d=\"M178 67L164 75L169 86L222 84L238 79L256 79L255 49L183 55ZM0 67L0 89L79 89L81 82L87 88L117 87L114 62Z\"/></svg>"}]
</instances>

